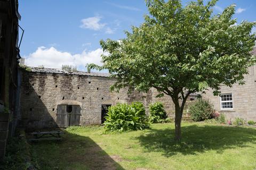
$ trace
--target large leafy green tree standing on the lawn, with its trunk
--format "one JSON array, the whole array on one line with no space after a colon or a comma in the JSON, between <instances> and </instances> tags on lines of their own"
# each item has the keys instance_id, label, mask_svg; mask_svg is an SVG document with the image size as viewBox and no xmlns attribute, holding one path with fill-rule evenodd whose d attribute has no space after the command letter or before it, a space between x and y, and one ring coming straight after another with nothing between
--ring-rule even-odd
<instances>
[{"instance_id":1,"label":"large leafy green tree standing on the lawn, with its trunk","mask_svg":"<svg viewBox=\"0 0 256 170\"><path fill-rule=\"evenodd\" d=\"M255 22L235 24L235 5L214 15L217 0L203 0L186 6L179 0L146 0L150 15L139 27L126 31L126 38L101 40L108 55L103 66L117 81L111 89L132 87L147 91L156 88L161 97L169 95L175 105L175 139L181 139L181 118L191 93L207 88L220 94L220 85L243 84L247 68L255 63L250 52L256 35Z\"/></svg>"}]
</instances>

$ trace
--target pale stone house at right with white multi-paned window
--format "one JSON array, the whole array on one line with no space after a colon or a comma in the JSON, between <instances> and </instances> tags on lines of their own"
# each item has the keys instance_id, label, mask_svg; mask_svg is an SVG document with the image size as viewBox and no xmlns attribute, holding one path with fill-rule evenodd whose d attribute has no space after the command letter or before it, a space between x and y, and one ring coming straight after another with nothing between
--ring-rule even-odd
<instances>
[{"instance_id":1,"label":"pale stone house at right with white multi-paned window","mask_svg":"<svg viewBox=\"0 0 256 170\"><path fill-rule=\"evenodd\" d=\"M256 48L252 53L256 55ZM245 84L236 83L232 88L221 86L220 96L213 96L211 89L203 95L216 111L225 113L228 120L239 117L256 121L256 65L249 67L248 72L244 75Z\"/></svg>"}]
</instances>

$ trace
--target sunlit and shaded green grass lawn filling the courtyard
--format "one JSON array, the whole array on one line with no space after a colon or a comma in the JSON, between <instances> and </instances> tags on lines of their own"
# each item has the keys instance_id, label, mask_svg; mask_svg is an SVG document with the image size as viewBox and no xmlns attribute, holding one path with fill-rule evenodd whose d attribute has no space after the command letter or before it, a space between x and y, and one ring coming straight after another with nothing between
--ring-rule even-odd
<instances>
[{"instance_id":1,"label":"sunlit and shaded green grass lawn filling the courtyard","mask_svg":"<svg viewBox=\"0 0 256 170\"><path fill-rule=\"evenodd\" d=\"M102 127L71 127L60 142L32 145L42 169L256 169L256 129L183 123L102 134Z\"/></svg>"}]
</instances>

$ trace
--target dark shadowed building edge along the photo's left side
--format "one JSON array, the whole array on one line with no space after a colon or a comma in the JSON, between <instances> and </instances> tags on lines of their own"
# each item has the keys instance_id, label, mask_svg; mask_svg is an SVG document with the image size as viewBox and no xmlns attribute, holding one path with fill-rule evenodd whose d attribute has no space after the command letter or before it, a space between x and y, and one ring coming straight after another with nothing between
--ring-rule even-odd
<instances>
[{"instance_id":1,"label":"dark shadowed building edge along the photo's left side","mask_svg":"<svg viewBox=\"0 0 256 170\"><path fill-rule=\"evenodd\" d=\"M0 1L0 159L19 116L18 0ZM12 121L10 121L12 120Z\"/></svg>"}]
</instances>

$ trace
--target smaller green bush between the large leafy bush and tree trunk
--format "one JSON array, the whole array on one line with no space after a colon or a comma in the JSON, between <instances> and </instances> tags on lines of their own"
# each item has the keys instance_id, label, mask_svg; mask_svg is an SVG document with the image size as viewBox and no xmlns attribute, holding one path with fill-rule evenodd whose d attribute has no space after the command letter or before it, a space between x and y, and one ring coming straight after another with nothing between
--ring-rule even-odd
<instances>
[{"instance_id":1,"label":"smaller green bush between the large leafy bush and tree trunk","mask_svg":"<svg viewBox=\"0 0 256 170\"><path fill-rule=\"evenodd\" d=\"M164 123L167 118L164 111L164 105L161 102L156 102L149 105L149 122L150 123Z\"/></svg>"}]
</instances>

